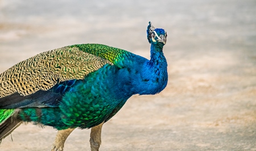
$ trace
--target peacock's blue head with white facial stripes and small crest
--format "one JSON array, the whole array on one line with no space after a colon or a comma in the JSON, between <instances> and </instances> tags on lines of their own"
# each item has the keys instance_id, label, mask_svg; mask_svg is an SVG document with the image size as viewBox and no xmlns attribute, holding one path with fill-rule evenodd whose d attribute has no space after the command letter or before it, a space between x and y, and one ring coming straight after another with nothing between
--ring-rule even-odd
<instances>
[{"instance_id":1,"label":"peacock's blue head with white facial stripes and small crest","mask_svg":"<svg viewBox=\"0 0 256 151\"><path fill-rule=\"evenodd\" d=\"M149 22L147 26L147 40L150 44L163 47L166 44L167 33L164 29L155 28Z\"/></svg>"}]
</instances>

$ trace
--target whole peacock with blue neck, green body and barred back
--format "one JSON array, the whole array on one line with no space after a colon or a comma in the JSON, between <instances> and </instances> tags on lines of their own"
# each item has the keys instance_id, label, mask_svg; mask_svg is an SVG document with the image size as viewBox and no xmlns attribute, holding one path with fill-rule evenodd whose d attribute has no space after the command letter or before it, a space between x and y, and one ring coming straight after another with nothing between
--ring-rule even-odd
<instances>
[{"instance_id":1,"label":"whole peacock with blue neck, green body and barred back","mask_svg":"<svg viewBox=\"0 0 256 151\"><path fill-rule=\"evenodd\" d=\"M101 145L102 125L134 94L157 94L167 85L163 54L167 33L149 22L150 60L101 44L77 44L28 58L0 75L0 141L22 123L58 130L61 151L75 128L88 129L90 148Z\"/></svg>"}]
</instances>

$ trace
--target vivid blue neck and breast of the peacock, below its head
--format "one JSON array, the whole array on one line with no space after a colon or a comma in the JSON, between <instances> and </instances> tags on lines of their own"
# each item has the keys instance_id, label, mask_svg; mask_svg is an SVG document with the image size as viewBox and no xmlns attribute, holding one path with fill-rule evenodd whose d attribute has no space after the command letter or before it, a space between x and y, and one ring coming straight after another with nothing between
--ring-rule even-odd
<instances>
[{"instance_id":1,"label":"vivid blue neck and breast of the peacock, below its head","mask_svg":"<svg viewBox=\"0 0 256 151\"><path fill-rule=\"evenodd\" d=\"M161 92L168 81L167 62L162 50L163 48L151 45L150 60L139 55L124 59L126 67L117 68L117 75L108 77L108 79L112 78L111 88L109 88L112 91L111 94L115 94L117 98L129 98L133 94Z\"/></svg>"}]
</instances>

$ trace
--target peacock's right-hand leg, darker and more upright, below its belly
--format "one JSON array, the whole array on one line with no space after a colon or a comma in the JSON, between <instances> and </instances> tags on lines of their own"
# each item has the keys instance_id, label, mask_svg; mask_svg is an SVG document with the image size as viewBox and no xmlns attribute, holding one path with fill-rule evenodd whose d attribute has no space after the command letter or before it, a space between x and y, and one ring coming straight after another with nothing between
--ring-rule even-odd
<instances>
[{"instance_id":1,"label":"peacock's right-hand leg, darker and more upright, below its belly","mask_svg":"<svg viewBox=\"0 0 256 151\"><path fill-rule=\"evenodd\" d=\"M103 122L104 123L104 122ZM103 123L98 126L92 127L90 131L90 149L92 151L98 151L101 145L101 129Z\"/></svg>"}]
</instances>

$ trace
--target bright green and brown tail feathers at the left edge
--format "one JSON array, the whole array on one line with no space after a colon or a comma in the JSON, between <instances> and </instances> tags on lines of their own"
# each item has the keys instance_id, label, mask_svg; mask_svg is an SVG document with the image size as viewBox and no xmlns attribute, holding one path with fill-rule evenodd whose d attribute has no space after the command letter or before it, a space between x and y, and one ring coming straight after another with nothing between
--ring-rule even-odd
<instances>
[{"instance_id":1,"label":"bright green and brown tail feathers at the left edge","mask_svg":"<svg viewBox=\"0 0 256 151\"><path fill-rule=\"evenodd\" d=\"M16 118L15 113L18 113L15 109L2 109L0 110L0 143L6 136L10 135L22 121Z\"/></svg>"}]
</instances>

